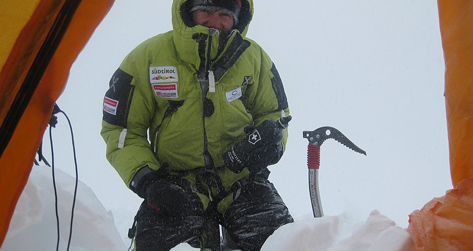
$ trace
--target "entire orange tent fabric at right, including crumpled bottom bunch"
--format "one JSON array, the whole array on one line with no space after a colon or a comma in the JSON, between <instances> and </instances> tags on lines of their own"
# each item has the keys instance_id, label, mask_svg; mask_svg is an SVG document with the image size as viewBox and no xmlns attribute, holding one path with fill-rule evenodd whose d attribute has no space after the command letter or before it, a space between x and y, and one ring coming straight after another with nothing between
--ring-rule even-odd
<instances>
[{"instance_id":1,"label":"entire orange tent fabric at right, including crumpled bottom bunch","mask_svg":"<svg viewBox=\"0 0 473 251\"><path fill-rule=\"evenodd\" d=\"M438 0L455 189L409 215L418 250L473 250L473 1Z\"/></svg>"}]
</instances>

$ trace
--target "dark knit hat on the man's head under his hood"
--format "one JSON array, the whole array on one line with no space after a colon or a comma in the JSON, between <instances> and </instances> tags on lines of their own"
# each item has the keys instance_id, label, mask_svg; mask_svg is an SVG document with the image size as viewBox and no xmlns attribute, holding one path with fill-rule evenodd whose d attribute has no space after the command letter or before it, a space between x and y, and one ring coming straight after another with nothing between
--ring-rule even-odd
<instances>
[{"instance_id":1,"label":"dark knit hat on the man's head under his hood","mask_svg":"<svg viewBox=\"0 0 473 251\"><path fill-rule=\"evenodd\" d=\"M242 9L241 0L191 0L190 12L197 10L216 10L230 14L233 21L238 24L238 15Z\"/></svg>"}]
</instances>

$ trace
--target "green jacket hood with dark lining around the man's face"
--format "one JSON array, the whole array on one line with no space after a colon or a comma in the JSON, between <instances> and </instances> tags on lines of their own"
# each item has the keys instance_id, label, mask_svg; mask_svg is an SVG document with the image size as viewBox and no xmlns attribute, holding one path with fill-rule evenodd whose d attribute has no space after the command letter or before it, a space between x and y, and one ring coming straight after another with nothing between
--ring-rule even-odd
<instances>
[{"instance_id":1,"label":"green jacket hood with dark lining around the man's face","mask_svg":"<svg viewBox=\"0 0 473 251\"><path fill-rule=\"evenodd\" d=\"M198 56L199 48L196 41L199 40L199 37L202 38L202 35L213 37L214 39L209 41L212 45L209 47L212 48L209 55L210 58L214 58L217 55L219 34L215 29L195 25L189 16L190 9L191 2L189 0L174 0L172 5L173 41L179 57L197 68L201 64L201 59ZM242 0L242 9L238 16L239 22L237 27L232 30L228 42L231 42L235 36L245 38L252 17L253 0Z\"/></svg>"}]
</instances>

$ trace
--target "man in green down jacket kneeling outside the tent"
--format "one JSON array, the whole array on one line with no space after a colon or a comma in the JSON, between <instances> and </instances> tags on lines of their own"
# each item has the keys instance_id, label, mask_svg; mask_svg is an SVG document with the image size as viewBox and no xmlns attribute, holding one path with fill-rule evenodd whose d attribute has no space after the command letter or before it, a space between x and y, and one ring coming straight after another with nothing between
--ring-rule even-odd
<instances>
[{"instance_id":1,"label":"man in green down jacket kneeling outside the tent","mask_svg":"<svg viewBox=\"0 0 473 251\"><path fill-rule=\"evenodd\" d=\"M258 250L293 221L267 169L284 152L289 107L273 62L245 37L252 16L253 0L174 0L173 30L110 80L101 135L144 199L137 250L217 249L218 224L233 248Z\"/></svg>"}]
</instances>

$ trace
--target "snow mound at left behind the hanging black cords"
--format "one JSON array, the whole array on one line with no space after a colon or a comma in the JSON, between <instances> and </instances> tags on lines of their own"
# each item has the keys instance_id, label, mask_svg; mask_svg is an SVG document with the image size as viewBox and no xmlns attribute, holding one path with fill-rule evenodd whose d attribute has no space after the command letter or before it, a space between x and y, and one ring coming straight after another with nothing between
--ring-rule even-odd
<instances>
[{"instance_id":1,"label":"snow mound at left behind the hanging black cords","mask_svg":"<svg viewBox=\"0 0 473 251\"><path fill-rule=\"evenodd\" d=\"M66 250L75 178L55 169L59 250ZM70 250L126 250L113 220L94 192L83 182L77 186ZM33 167L17 203L1 250L55 250L57 225L51 168Z\"/></svg>"}]
</instances>

